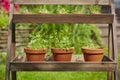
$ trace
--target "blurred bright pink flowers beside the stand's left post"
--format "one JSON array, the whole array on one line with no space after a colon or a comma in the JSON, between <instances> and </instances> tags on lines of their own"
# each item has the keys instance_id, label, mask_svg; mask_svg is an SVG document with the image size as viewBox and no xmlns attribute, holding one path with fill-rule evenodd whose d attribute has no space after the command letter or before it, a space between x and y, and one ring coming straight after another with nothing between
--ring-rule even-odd
<instances>
[{"instance_id":1,"label":"blurred bright pink flowers beside the stand's left post","mask_svg":"<svg viewBox=\"0 0 120 80\"><path fill-rule=\"evenodd\" d=\"M0 0L0 8L4 11L8 12L10 9L10 1L9 0ZM15 4L16 11L19 11L19 5Z\"/></svg>"}]
</instances>

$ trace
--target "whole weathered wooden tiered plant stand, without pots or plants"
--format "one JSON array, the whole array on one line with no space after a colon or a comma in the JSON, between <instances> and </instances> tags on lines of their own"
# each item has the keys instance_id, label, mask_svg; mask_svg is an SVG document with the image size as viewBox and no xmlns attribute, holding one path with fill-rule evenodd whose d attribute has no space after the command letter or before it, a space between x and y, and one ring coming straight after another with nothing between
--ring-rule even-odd
<instances>
[{"instance_id":1,"label":"whole weathered wooden tiered plant stand, without pots or plants","mask_svg":"<svg viewBox=\"0 0 120 80\"><path fill-rule=\"evenodd\" d=\"M15 14L14 4L73 4L108 6L108 14ZM118 80L118 53L114 0L11 0L8 33L6 80L16 80L17 71L106 71L108 80ZM92 23L108 24L108 56L102 62L27 62L23 55L15 55L16 23ZM114 78L112 78L114 76Z\"/></svg>"}]
</instances>

